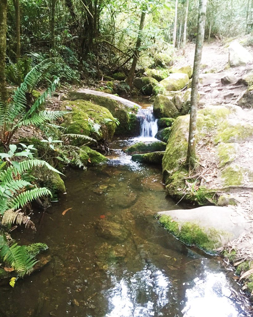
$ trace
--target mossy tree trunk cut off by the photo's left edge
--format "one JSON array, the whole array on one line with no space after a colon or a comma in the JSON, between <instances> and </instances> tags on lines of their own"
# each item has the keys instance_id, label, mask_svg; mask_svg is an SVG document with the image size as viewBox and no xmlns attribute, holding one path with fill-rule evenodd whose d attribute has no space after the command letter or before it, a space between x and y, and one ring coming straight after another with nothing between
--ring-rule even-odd
<instances>
[{"instance_id":1,"label":"mossy tree trunk cut off by the photo's left edge","mask_svg":"<svg viewBox=\"0 0 253 317\"><path fill-rule=\"evenodd\" d=\"M6 54L6 15L7 0L0 1L0 98L3 102L7 100L7 89L5 82L5 54Z\"/></svg>"}]
</instances>

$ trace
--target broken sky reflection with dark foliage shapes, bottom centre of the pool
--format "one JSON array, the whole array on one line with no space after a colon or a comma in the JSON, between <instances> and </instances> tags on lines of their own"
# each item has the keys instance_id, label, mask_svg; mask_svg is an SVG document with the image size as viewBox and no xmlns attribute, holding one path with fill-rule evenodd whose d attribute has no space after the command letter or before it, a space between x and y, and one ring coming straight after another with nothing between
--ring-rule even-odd
<instances>
[{"instance_id":1,"label":"broken sky reflection with dark foliage shapes, bottom centre of the pool","mask_svg":"<svg viewBox=\"0 0 253 317\"><path fill-rule=\"evenodd\" d=\"M111 277L115 286L107 291L110 311L106 317L157 316L169 302L171 282L155 266L145 266L132 277L120 281Z\"/></svg>"}]
</instances>

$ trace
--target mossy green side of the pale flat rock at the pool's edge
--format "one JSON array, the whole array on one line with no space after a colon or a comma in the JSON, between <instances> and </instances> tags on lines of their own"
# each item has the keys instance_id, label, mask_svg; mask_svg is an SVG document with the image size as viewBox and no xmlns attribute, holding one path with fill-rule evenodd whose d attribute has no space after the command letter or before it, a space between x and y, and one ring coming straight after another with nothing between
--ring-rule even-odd
<instances>
[{"instance_id":1,"label":"mossy green side of the pale flat rock at the pool's edge","mask_svg":"<svg viewBox=\"0 0 253 317\"><path fill-rule=\"evenodd\" d=\"M215 253L213 249L218 242L217 237L219 237L220 233L214 228L210 228L208 232L205 232L196 223L177 223L166 215L160 217L158 221L167 231L183 243L190 246L195 245L207 253Z\"/></svg>"}]
</instances>

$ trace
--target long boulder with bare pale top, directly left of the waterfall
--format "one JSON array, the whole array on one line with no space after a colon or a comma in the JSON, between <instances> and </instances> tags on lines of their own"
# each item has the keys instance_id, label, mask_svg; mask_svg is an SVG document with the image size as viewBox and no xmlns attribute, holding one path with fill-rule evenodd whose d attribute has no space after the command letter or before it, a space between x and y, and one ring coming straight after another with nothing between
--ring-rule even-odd
<instances>
[{"instance_id":1,"label":"long boulder with bare pale top, directly left of the waterfall","mask_svg":"<svg viewBox=\"0 0 253 317\"><path fill-rule=\"evenodd\" d=\"M139 105L132 101L89 89L70 91L67 97L69 100L91 101L107 108L120 122L115 130L116 135L136 135L139 132L139 121L135 114Z\"/></svg>"}]
</instances>

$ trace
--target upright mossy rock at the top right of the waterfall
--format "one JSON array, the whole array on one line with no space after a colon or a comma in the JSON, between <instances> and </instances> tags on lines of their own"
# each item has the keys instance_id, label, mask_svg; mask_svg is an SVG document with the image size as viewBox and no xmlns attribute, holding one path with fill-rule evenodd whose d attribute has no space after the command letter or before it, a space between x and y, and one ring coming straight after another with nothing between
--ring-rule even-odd
<instances>
[{"instance_id":1,"label":"upright mossy rock at the top right of the waterfall","mask_svg":"<svg viewBox=\"0 0 253 317\"><path fill-rule=\"evenodd\" d=\"M179 115L179 111L170 100L170 97L158 94L154 100L154 114L157 118L175 118Z\"/></svg>"}]
</instances>

